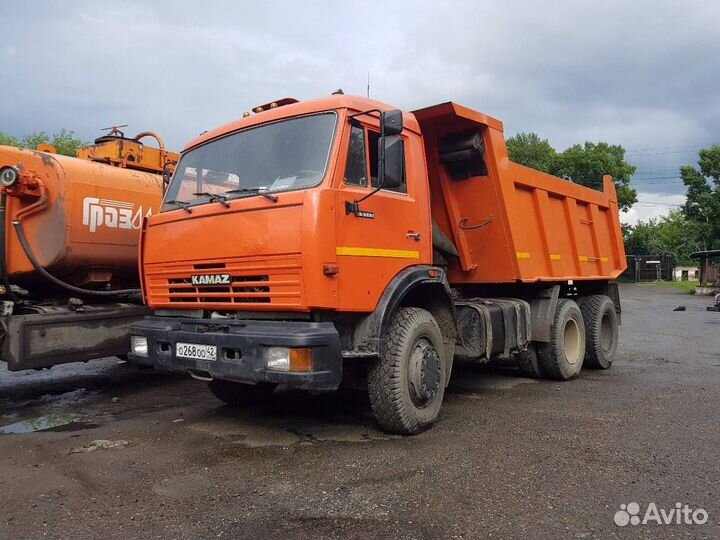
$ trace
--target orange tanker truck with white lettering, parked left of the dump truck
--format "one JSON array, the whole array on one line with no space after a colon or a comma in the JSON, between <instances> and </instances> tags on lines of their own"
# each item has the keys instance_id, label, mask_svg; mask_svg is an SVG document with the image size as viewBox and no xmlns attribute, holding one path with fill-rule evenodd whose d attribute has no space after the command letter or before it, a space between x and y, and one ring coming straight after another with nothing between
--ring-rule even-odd
<instances>
[{"instance_id":1,"label":"orange tanker truck with white lettering, parked left of the dump truck","mask_svg":"<svg viewBox=\"0 0 720 540\"><path fill-rule=\"evenodd\" d=\"M75 158L50 145L0 146L0 359L9 370L128 352L129 324L148 311L138 231L177 159L156 134L131 139L117 128Z\"/></svg>"}]
</instances>

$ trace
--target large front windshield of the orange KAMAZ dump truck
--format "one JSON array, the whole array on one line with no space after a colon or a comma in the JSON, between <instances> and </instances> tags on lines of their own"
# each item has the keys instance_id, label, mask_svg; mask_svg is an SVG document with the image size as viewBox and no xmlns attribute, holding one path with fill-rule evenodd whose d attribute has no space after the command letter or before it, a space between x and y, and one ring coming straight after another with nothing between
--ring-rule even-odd
<instances>
[{"instance_id":1,"label":"large front windshield of the orange KAMAZ dump truck","mask_svg":"<svg viewBox=\"0 0 720 540\"><path fill-rule=\"evenodd\" d=\"M333 112L301 116L190 150L180 158L162 210L316 186L325 176L336 123Z\"/></svg>"}]
</instances>

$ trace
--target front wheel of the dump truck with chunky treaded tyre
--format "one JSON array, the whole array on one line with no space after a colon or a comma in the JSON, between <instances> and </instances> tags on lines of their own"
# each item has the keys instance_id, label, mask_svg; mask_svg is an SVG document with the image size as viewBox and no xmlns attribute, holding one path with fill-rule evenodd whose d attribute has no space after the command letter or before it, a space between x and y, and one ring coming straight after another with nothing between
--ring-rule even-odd
<instances>
[{"instance_id":1,"label":"front wheel of the dump truck with chunky treaded tyre","mask_svg":"<svg viewBox=\"0 0 720 540\"><path fill-rule=\"evenodd\" d=\"M424 309L400 308L383 345L368 372L373 414L390 433L425 431L435 422L445 394L447 360L440 327Z\"/></svg>"}]
</instances>

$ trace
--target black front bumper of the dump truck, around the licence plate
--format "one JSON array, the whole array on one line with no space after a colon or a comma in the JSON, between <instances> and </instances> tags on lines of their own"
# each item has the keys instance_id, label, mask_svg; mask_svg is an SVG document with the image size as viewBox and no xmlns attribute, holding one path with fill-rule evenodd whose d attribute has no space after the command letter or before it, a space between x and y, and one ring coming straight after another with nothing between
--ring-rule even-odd
<instances>
[{"instance_id":1,"label":"black front bumper of the dump truck, around the licence plate","mask_svg":"<svg viewBox=\"0 0 720 540\"><path fill-rule=\"evenodd\" d=\"M305 390L335 390L342 380L340 337L332 323L146 317L131 326L130 334L147 338L148 354L130 353L128 360L167 371ZM178 358L178 342L215 345L217 359ZM267 347L312 349L312 371L268 370Z\"/></svg>"}]
</instances>

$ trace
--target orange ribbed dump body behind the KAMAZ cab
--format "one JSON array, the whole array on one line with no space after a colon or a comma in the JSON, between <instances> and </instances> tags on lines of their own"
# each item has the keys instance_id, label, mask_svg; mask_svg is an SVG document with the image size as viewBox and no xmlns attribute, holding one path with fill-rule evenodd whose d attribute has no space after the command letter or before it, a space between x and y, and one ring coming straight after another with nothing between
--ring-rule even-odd
<instances>
[{"instance_id":1,"label":"orange ribbed dump body behind the KAMAZ cab","mask_svg":"<svg viewBox=\"0 0 720 540\"><path fill-rule=\"evenodd\" d=\"M459 255L450 260L451 283L607 280L625 270L610 177L600 192L513 163L502 122L455 103L414 114L423 131L432 217ZM484 146L484 167L461 174L467 172L461 166L441 163L442 141L473 133Z\"/></svg>"}]
</instances>

